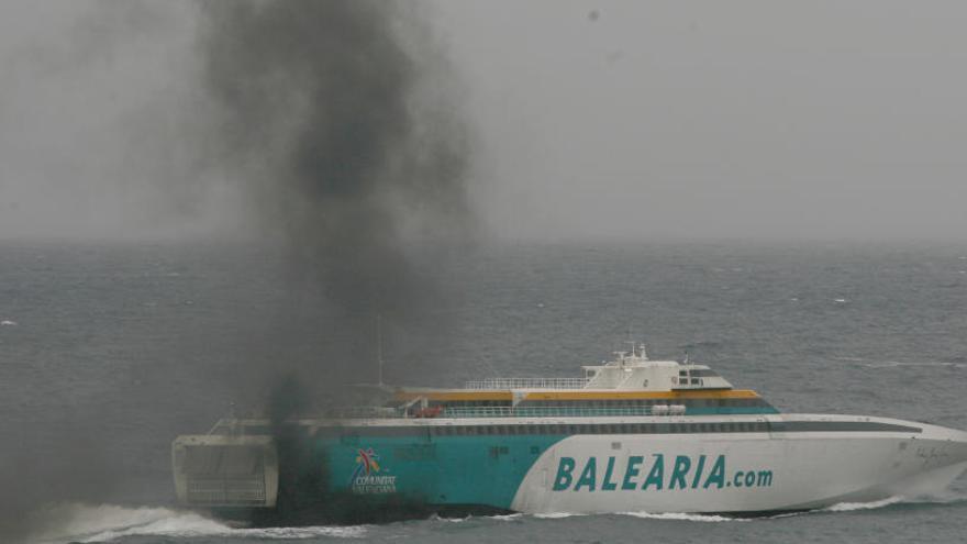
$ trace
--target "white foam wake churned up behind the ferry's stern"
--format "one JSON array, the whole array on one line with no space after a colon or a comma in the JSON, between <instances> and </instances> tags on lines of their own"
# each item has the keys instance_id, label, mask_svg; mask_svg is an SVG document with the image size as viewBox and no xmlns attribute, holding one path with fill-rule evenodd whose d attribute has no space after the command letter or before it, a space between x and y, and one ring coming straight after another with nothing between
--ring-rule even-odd
<instances>
[{"instance_id":1,"label":"white foam wake churned up behind the ferry's stern","mask_svg":"<svg viewBox=\"0 0 967 544\"><path fill-rule=\"evenodd\" d=\"M365 526L233 528L193 512L167 508L126 508L110 504L58 504L37 512L44 525L31 542L111 542L125 536L232 536L235 539L359 537Z\"/></svg>"}]
</instances>

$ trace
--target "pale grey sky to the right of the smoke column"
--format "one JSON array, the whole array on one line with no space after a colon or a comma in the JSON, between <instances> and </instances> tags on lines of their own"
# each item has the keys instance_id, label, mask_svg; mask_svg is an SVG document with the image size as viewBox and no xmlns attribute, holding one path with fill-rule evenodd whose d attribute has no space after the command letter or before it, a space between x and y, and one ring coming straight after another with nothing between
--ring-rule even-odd
<instances>
[{"instance_id":1,"label":"pale grey sky to the right of the smoke column","mask_svg":"<svg viewBox=\"0 0 967 544\"><path fill-rule=\"evenodd\" d=\"M442 3L504 234L967 230L963 2Z\"/></svg>"}]
</instances>

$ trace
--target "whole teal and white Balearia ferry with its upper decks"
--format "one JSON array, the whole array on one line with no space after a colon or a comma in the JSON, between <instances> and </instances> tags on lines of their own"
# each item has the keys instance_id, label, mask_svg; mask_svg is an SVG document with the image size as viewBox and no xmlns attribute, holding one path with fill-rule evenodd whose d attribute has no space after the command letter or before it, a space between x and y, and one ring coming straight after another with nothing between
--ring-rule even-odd
<instances>
[{"instance_id":1,"label":"whole teal and white Balearia ferry with its upper decks","mask_svg":"<svg viewBox=\"0 0 967 544\"><path fill-rule=\"evenodd\" d=\"M178 436L178 500L271 523L393 515L755 515L934 493L967 469L967 432L781 413L644 345L576 378L392 388L316 418L226 418ZM394 514L393 514L394 512ZM389 517L389 518L388 518ZM292 522L292 520L286 520Z\"/></svg>"}]
</instances>

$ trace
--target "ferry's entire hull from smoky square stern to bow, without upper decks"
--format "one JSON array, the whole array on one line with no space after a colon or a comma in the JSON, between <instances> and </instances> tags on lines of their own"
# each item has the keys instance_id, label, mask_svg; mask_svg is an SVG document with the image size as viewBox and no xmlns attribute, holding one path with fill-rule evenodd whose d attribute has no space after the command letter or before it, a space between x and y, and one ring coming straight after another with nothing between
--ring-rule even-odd
<instances>
[{"instance_id":1,"label":"ferry's entire hull from smoky square stern to bow, without upper decks","mask_svg":"<svg viewBox=\"0 0 967 544\"><path fill-rule=\"evenodd\" d=\"M190 491L201 488L190 474L198 451L191 448L203 451L208 438L179 437L176 487L189 506L222 511L243 506L262 520L298 512L307 523L400 518L394 510L402 517L434 511L742 514L929 495L967 468L967 433L900 420L603 418L582 428L592 433L577 434L564 432L574 425L563 420L505 423L304 425L301 438L275 440L271 447L257 443L265 456L246 466L258 474L223 475L229 490L244 488L232 478L262 478L269 490L262 504L251 502L252 493L244 496L249 502L237 504L209 488L198 495L208 502L192 504ZM233 438L211 440L225 447ZM251 437L238 440L258 457L252 444L245 445ZM199 481L222 486L216 476Z\"/></svg>"}]
</instances>

